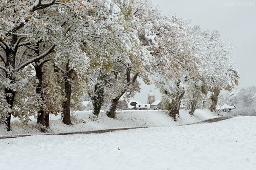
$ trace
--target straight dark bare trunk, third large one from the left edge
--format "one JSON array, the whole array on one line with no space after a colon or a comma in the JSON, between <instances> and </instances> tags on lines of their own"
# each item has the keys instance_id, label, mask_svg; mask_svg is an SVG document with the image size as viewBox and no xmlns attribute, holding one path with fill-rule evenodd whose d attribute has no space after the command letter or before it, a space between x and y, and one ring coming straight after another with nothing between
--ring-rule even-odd
<instances>
[{"instance_id":1,"label":"straight dark bare trunk, third large one from the left edge","mask_svg":"<svg viewBox=\"0 0 256 170\"><path fill-rule=\"evenodd\" d=\"M66 64L66 72L64 73L64 88L65 88L65 98L66 100L63 102L63 119L62 122L66 125L72 125L70 119L70 99L71 99L71 84L70 80L72 80L72 72L73 69L69 69L69 63Z\"/></svg>"}]
</instances>

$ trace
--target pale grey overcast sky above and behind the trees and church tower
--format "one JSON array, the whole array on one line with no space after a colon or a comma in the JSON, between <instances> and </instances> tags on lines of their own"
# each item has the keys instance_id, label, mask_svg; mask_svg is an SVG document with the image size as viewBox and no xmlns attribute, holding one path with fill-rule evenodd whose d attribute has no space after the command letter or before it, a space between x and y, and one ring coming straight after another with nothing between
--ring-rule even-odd
<instances>
[{"instance_id":1,"label":"pale grey overcast sky above and behind the trees and church tower","mask_svg":"<svg viewBox=\"0 0 256 170\"><path fill-rule=\"evenodd\" d=\"M256 86L256 0L152 0L165 15L169 12L191 20L202 29L217 29L223 39L232 43L233 60L240 68L239 87ZM133 99L147 102L149 89L161 99L154 86L142 84L141 93Z\"/></svg>"}]
</instances>

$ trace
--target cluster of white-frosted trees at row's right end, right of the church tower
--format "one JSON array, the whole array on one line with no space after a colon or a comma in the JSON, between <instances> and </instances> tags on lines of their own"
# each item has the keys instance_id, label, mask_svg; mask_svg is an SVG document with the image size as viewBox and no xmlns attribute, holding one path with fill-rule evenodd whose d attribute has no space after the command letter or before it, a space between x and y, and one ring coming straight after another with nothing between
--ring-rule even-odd
<instances>
[{"instance_id":1,"label":"cluster of white-frosted trees at row's right end, right of the church tower","mask_svg":"<svg viewBox=\"0 0 256 170\"><path fill-rule=\"evenodd\" d=\"M218 31L202 31L194 26L192 31L192 53L199 59L197 72L186 67L179 78L154 78L163 95L165 108L175 119L181 100L193 115L196 108L209 108L216 112L221 90L232 91L238 85L239 69L231 60L232 47L220 38Z\"/></svg>"}]
</instances>

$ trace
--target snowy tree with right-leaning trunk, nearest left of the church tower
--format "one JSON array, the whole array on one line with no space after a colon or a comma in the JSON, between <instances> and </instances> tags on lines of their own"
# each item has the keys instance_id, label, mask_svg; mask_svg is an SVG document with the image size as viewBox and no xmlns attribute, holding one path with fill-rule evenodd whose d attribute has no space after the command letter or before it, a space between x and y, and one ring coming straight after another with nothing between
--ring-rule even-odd
<instances>
[{"instance_id":1,"label":"snowy tree with right-leaning trunk, nearest left of the church tower","mask_svg":"<svg viewBox=\"0 0 256 170\"><path fill-rule=\"evenodd\" d=\"M102 45L107 46L107 48L104 49L105 54L102 54L102 56L110 59L110 65L107 69L104 68L105 71L108 72L106 74L108 74L109 77L107 79L108 84L104 85L101 91L106 91L105 96L110 98L110 103L105 110L108 117L114 117L121 96L124 94L133 94L132 92L138 89L137 77L139 74L146 77L144 67L145 63L148 62L148 56L150 56L148 51L140 46L136 30L130 27L130 1L116 0L114 2L116 6L109 5L109 7L110 9L112 8L112 13L116 11L114 12L114 14L116 14L116 20L112 20L111 25L107 25L108 27L105 26L104 33L98 33L97 36L94 36L95 38L99 38L103 37L100 34L107 34L107 36L101 38L101 41ZM112 16L111 18L114 17ZM109 21L105 23L110 24ZM95 25L97 24L96 21ZM99 70L101 69L102 68L99 67ZM101 75L98 76L98 78L100 77ZM94 92L96 92L95 88Z\"/></svg>"}]
</instances>

